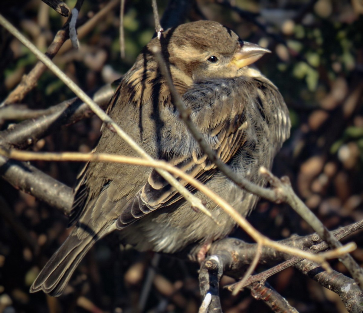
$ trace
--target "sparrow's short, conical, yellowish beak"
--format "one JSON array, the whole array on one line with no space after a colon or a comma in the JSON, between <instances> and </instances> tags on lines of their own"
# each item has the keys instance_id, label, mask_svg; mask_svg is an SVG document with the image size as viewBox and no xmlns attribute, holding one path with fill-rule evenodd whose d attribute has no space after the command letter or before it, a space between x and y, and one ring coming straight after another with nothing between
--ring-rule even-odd
<instances>
[{"instance_id":1,"label":"sparrow's short, conical, yellowish beak","mask_svg":"<svg viewBox=\"0 0 363 313\"><path fill-rule=\"evenodd\" d=\"M259 45L251 44L247 41L241 41L241 49L234 53L231 65L238 69L250 65L261 58L265 53L270 53L269 49L262 48Z\"/></svg>"}]
</instances>

